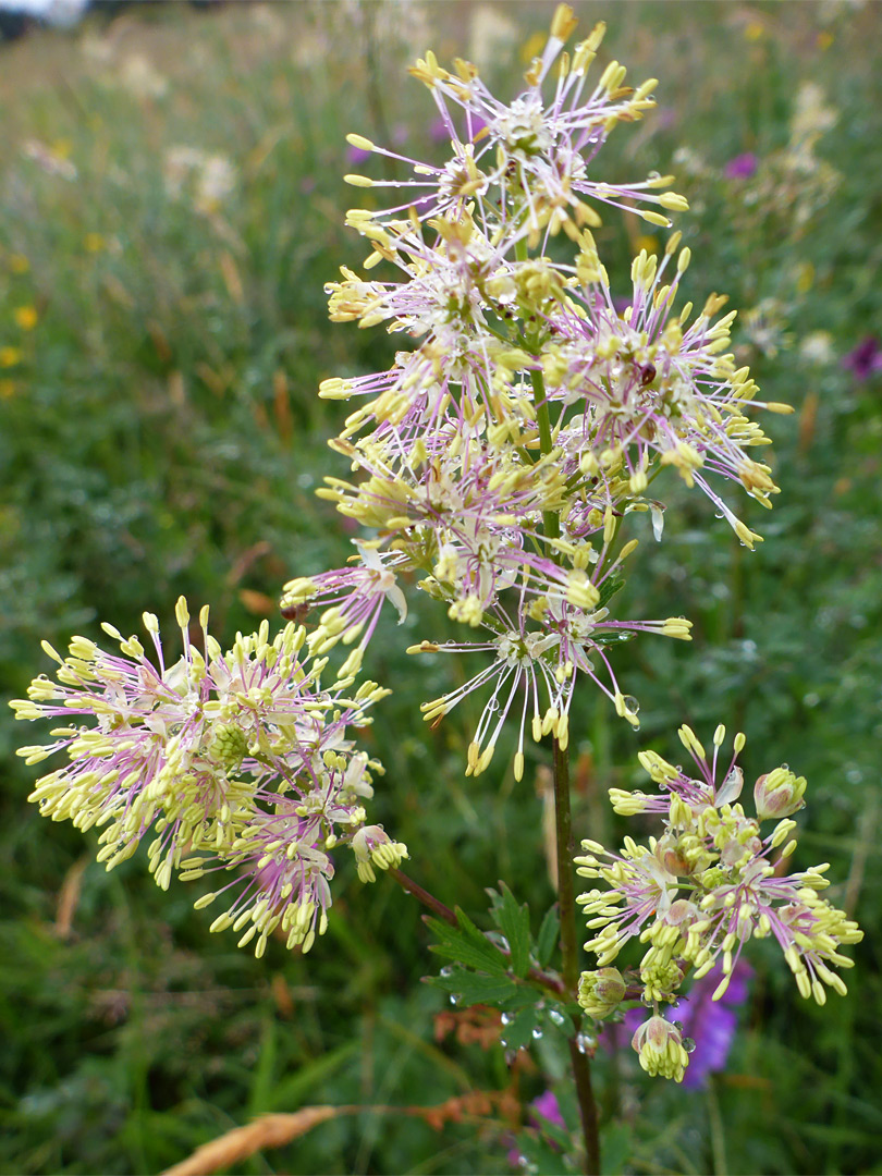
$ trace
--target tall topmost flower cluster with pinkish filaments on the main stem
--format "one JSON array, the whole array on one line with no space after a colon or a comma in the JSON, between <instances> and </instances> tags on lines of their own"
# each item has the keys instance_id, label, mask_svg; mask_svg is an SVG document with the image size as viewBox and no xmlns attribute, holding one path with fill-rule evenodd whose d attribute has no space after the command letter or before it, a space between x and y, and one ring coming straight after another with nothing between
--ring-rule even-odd
<instances>
[{"instance_id":1,"label":"tall topmost flower cluster with pinkish filaments on the main stem","mask_svg":"<svg viewBox=\"0 0 882 1176\"><path fill-rule=\"evenodd\" d=\"M368 534L346 568L293 580L282 603L322 609L309 639L316 654L338 641L363 650L387 599L403 619L402 575L479 630L410 647L489 655L465 686L423 706L434 722L485 691L468 774L489 763L509 714L520 719L519 777L527 731L566 747L580 675L637 726L609 648L639 633L689 640L682 617L610 613L636 546L622 541L627 516L650 514L661 537L663 505L648 488L664 467L702 489L747 546L760 536L710 480L736 481L766 507L777 493L769 467L748 455L767 437L747 415L760 405L756 385L727 350L735 313L721 316L717 295L691 321L691 303L674 309L690 256L679 233L661 259L635 259L620 313L590 232L597 205L636 202L643 219L670 227L646 205L681 211L686 201L668 189L670 176L614 186L596 175L607 138L653 106L655 82L632 89L613 61L592 87L603 26L570 55L563 46L575 24L561 5L527 88L509 103L468 62L454 73L432 54L416 64L449 159L423 163L349 136L365 156L382 155L410 175L347 178L402 200L349 212L370 247L366 273L343 268L327 287L333 321L385 323L414 349L399 352L387 372L322 385L322 396L359 407L332 442L353 475L326 479L319 493ZM569 261L548 252L561 230ZM382 280L372 276L380 266Z\"/></svg>"}]
</instances>

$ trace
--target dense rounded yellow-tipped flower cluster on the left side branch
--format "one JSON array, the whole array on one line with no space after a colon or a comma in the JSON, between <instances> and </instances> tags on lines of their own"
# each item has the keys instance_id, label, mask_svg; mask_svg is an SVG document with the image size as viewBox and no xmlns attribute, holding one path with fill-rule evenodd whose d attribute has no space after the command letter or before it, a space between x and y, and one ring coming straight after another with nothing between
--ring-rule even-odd
<instances>
[{"instance_id":1,"label":"dense rounded yellow-tipped flower cluster on the left side branch","mask_svg":"<svg viewBox=\"0 0 882 1176\"><path fill-rule=\"evenodd\" d=\"M306 630L286 626L270 642L267 622L239 634L223 653L199 616L203 653L191 640L186 601L176 619L183 654L166 666L159 624L145 614L155 650L151 661L138 637L103 629L119 643L106 653L74 637L58 663L58 681L34 680L18 719L64 720L54 742L19 750L28 763L67 751L68 763L42 776L31 796L53 821L102 829L99 861L112 869L148 834L149 868L167 889L182 878L234 876L196 903L228 904L212 929L233 927L256 937L263 954L281 929L288 947L306 951L327 927L330 850L349 846L359 876L388 869L407 856L377 826L366 826L363 802L381 770L347 737L369 723L367 709L388 691L375 682L355 687L352 662L329 688L327 659L305 650ZM86 724L85 719L92 720Z\"/></svg>"}]
</instances>

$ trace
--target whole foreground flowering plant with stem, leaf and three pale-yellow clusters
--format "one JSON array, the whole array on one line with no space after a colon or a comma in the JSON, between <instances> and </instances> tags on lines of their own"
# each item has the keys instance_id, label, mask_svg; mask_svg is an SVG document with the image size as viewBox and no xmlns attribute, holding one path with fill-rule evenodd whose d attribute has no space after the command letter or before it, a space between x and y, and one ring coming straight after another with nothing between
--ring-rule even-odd
<instances>
[{"instance_id":1,"label":"whole foreground flowering plant with stem, leaf and three pale-yellow clusters","mask_svg":"<svg viewBox=\"0 0 882 1176\"><path fill-rule=\"evenodd\" d=\"M582 1116L582 1164L593 1172L600 1144L589 1022L642 1002L650 1016L634 1034L640 1064L680 1081L687 1043L661 1007L686 995L690 976L717 968L721 997L748 941L774 937L799 990L822 1003L828 988L844 991L833 968L849 963L840 947L860 931L820 897L826 867L787 873L804 780L786 768L768 773L755 788L756 816L747 816L735 762L744 737L735 736L727 764L722 727L710 760L681 729L694 777L642 753L659 794L614 791L614 807L656 813L664 830L648 847L628 838L621 854L584 841L579 873L604 889L576 900L574 691L593 684L636 729L639 708L619 680L616 646L643 634L690 640L683 617L615 609L637 547L627 534L633 516L648 514L661 540L659 494L671 467L668 476L697 487L751 548L761 536L735 514L727 483L771 506L779 488L753 456L768 439L749 414L789 409L759 400L748 369L736 367L728 350L735 312L721 313L726 299L711 294L697 313L683 301L690 250L680 232L661 255L642 250L628 281L607 273L592 233L601 214L627 208L673 229L668 213L687 203L671 176L603 180L603 145L652 109L655 81L627 86L616 61L589 80L604 29L597 25L568 53L575 26L561 5L526 88L508 103L469 62L456 61L454 72L432 53L416 62L412 73L449 139L443 163L349 136L360 158L385 156L407 174L347 176L372 195L374 207L347 214L369 252L361 272L345 267L328 285L330 318L385 325L403 346L388 370L329 379L320 389L353 408L332 442L349 476L328 476L319 494L363 533L343 568L286 586L283 608L308 606L318 624L309 633L289 624L273 641L265 626L225 654L202 615L202 654L181 604L185 654L175 666L165 667L148 617L155 664L136 639L113 629L120 655L75 639L69 657L52 654L60 684L38 679L16 708L24 719L65 716L55 743L22 749L34 762L64 749L71 759L38 783L33 799L42 810L83 829L106 826L108 867L152 829L151 868L162 886L175 871L219 871L223 884L199 904L221 901L214 927L245 928L240 942L256 938L259 955L278 928L289 946L310 947L327 924L333 856L349 847L363 881L374 867L388 869L440 915L437 949L454 961L443 984L455 998L496 1003L515 1030L556 1001ZM554 238L568 249L552 250ZM473 677L422 704L434 724L469 694L483 701L466 774L506 755L521 780L528 740L550 744L559 969L556 920L546 918L534 940L528 914L506 890L492 911L503 936L488 938L401 874L405 847L366 823L362 801L380 766L356 750L348 730L369 721L368 707L386 691L355 683L382 609L388 602L403 620L414 581L463 635L429 634L409 652L483 657ZM332 671L341 646L348 653ZM71 726L76 716L96 726ZM586 948L597 957L593 971L580 958L577 901L590 928ZM620 971L632 938L648 946Z\"/></svg>"}]
</instances>

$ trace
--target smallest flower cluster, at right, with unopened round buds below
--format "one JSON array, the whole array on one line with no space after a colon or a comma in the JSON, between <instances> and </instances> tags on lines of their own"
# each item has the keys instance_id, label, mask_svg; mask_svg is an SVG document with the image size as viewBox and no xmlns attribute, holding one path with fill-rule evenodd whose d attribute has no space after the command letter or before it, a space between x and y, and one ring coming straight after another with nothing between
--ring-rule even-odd
<instances>
[{"instance_id":1,"label":"smallest flower cluster, at right, with unopened round buds below","mask_svg":"<svg viewBox=\"0 0 882 1176\"><path fill-rule=\"evenodd\" d=\"M577 900L593 933L586 949L600 965L582 975L580 1004L590 1016L610 1016L629 991L614 961L629 940L646 944L630 995L639 993L655 1015L640 1027L633 1044L648 1073L677 1082L688 1055L680 1029L659 1014L659 1004L680 998L690 971L700 981L719 969L711 997L719 1001L748 941L771 936L800 994L823 1004L827 988L846 993L833 967L850 968L853 961L840 948L863 937L851 918L821 897L829 884L827 864L787 874L796 848L790 817L804 803L804 777L787 766L760 776L754 786L756 816L748 816L739 803L744 777L736 763L744 736L736 735L733 756L721 759L726 729L717 727L708 759L690 728L679 734L696 776L655 751L643 751L641 763L659 793L610 790L621 815L659 814L662 836L650 837L648 846L627 837L621 854L583 841L584 855L575 858L581 876L604 883ZM763 836L761 823L769 820L776 823Z\"/></svg>"}]
</instances>

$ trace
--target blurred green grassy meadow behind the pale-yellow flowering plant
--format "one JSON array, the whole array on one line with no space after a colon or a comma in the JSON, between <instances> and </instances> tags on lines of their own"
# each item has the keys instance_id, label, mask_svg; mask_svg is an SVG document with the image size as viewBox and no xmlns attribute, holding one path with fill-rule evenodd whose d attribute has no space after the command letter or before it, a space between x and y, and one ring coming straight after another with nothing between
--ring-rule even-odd
<instances>
[{"instance_id":1,"label":"blurred green grassy meadow behind the pale-yellow flowering plant","mask_svg":"<svg viewBox=\"0 0 882 1176\"><path fill-rule=\"evenodd\" d=\"M0 46L5 697L45 668L41 637L98 636L100 620L134 632L146 608L169 626L181 592L232 637L274 614L286 579L346 557L339 516L312 495L341 473L325 440L342 413L315 388L385 367L392 347L326 319L323 282L363 254L341 227L343 136L437 152L407 62L429 46L465 54L510 94L552 8L116 6ZM771 515L746 515L767 536L756 553L674 486L661 546L647 524L623 615L682 613L695 641L621 652L639 734L581 699L577 835L621 831L606 788L636 782L641 748L674 754L680 722L743 726L748 779L782 761L808 776L797 864L831 861L831 898L867 930L848 997L824 1009L799 1001L771 948L756 955L708 1090L644 1083L601 1050L600 1083L614 1070L619 1083L607 1170L880 1172L882 363L867 343L882 335L880 8L576 11L582 31L608 21L602 61L661 79L659 111L620 128L603 166L676 173L689 296L731 295L739 356L797 409L769 426L783 493ZM624 279L642 222L606 221ZM429 733L416 707L450 667L400 652L442 624L414 613L408 626L372 647L369 673L395 688L370 733L388 769L376 818L446 902L477 914L503 877L537 922L553 897L530 784L544 751L520 786L501 762L463 780L474 716ZM31 739L0 715L1 1170L153 1172L261 1111L430 1104L513 1082L526 1102L563 1073L547 1042L513 1080L499 1045L435 1040L427 934L388 880L366 890L342 870L310 956L276 944L255 962L207 934L189 888L161 895L140 856L106 875L92 846L26 804L33 773L12 750ZM234 1170L505 1172L506 1152L490 1128L366 1114Z\"/></svg>"}]
</instances>

